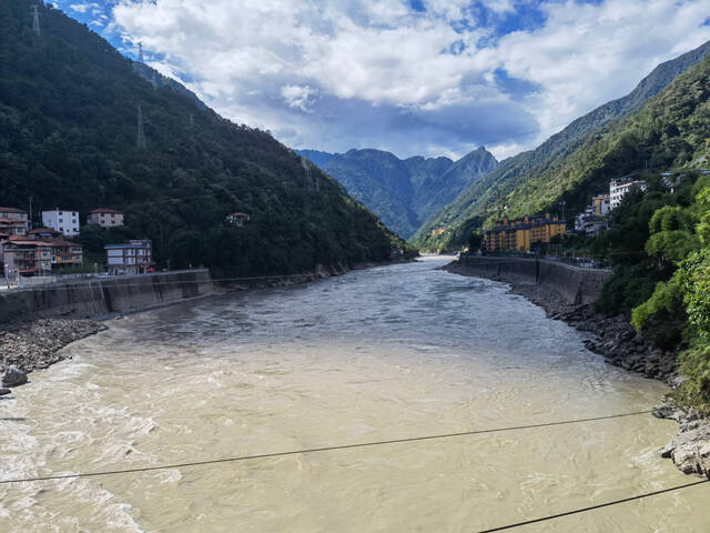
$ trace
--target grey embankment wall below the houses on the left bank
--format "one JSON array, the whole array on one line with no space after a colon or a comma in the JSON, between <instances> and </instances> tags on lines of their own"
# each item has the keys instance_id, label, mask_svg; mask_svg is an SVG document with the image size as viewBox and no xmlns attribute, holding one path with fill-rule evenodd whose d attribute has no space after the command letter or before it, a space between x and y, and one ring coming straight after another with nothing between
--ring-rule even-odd
<instances>
[{"instance_id":1,"label":"grey embankment wall below the houses on the left bank","mask_svg":"<svg viewBox=\"0 0 710 533\"><path fill-rule=\"evenodd\" d=\"M213 293L207 270L97 278L0 294L0 323L51 316L101 316Z\"/></svg>"}]
</instances>

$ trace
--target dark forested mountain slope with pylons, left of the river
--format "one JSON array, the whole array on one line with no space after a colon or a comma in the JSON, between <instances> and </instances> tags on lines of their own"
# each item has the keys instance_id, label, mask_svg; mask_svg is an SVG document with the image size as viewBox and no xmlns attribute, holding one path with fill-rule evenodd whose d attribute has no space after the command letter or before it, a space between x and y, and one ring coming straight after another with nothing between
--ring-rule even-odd
<instances>
[{"instance_id":1,"label":"dark forested mountain slope with pylons, left of the river","mask_svg":"<svg viewBox=\"0 0 710 533\"><path fill-rule=\"evenodd\" d=\"M123 230L82 230L89 254L148 238L159 265L219 275L386 260L404 247L271 134L220 117L61 11L40 6L36 34L34 3L0 3L0 204L120 209ZM225 222L236 211L250 215L243 228Z\"/></svg>"}]
</instances>

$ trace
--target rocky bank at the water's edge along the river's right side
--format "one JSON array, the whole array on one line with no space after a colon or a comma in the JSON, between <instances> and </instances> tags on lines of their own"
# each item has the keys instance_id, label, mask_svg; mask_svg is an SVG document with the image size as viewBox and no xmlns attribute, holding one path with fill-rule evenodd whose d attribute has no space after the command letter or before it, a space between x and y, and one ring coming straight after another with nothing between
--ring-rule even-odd
<instances>
[{"instance_id":1,"label":"rocky bank at the water's edge along the river's right side","mask_svg":"<svg viewBox=\"0 0 710 533\"><path fill-rule=\"evenodd\" d=\"M459 262L452 262L444 266L444 270L508 283L513 294L525 296L541 306L548 318L560 320L592 335L594 339L585 341L586 348L604 356L609 364L663 381L672 389L682 381L682 376L678 374L678 353L662 351L652 345L636 332L622 314L605 316L597 313L591 304L570 304L549 285L485 276ZM710 477L710 421L673 405L668 399L653 410L653 416L674 420L679 424L678 435L661 450L661 456L671 459L686 474Z\"/></svg>"}]
</instances>

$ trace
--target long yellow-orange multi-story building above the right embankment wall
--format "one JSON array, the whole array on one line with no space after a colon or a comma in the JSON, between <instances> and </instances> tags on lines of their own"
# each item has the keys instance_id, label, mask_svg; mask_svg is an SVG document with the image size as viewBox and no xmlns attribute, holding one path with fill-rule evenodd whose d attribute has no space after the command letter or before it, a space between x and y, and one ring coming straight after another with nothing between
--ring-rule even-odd
<instances>
[{"instance_id":1,"label":"long yellow-orange multi-story building above the right embankment wall","mask_svg":"<svg viewBox=\"0 0 710 533\"><path fill-rule=\"evenodd\" d=\"M555 235L564 235L566 232L566 223L550 213L545 213L545 217L525 215L515 220L505 217L494 229L486 232L486 250L529 252L532 248L548 244Z\"/></svg>"}]
</instances>

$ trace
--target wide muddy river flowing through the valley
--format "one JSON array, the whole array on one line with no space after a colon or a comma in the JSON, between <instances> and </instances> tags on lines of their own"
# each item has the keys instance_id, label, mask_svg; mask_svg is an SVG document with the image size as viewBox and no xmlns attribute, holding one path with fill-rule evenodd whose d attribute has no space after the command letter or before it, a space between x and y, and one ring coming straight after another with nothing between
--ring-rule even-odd
<instances>
[{"instance_id":1,"label":"wide muddy river flowing through the valley","mask_svg":"<svg viewBox=\"0 0 710 533\"><path fill-rule=\"evenodd\" d=\"M651 409L667 389L445 261L108 322L0 401L0 479ZM0 485L0 531L476 532L693 481L650 415ZM527 532L707 532L708 485Z\"/></svg>"}]
</instances>

